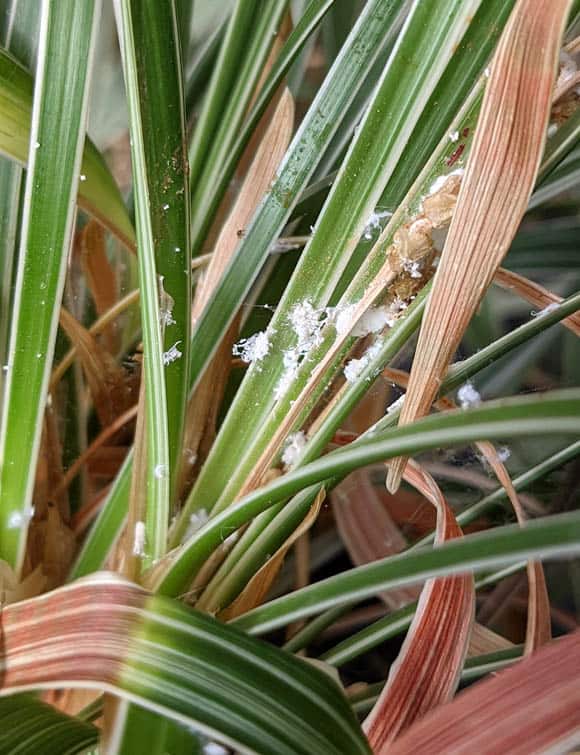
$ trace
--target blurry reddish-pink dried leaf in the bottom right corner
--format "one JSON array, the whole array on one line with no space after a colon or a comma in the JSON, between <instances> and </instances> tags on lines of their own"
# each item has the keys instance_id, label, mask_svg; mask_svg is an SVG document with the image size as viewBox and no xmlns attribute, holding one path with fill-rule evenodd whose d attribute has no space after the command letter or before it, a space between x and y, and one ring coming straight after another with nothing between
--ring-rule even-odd
<instances>
[{"instance_id":1,"label":"blurry reddish-pink dried leaf in the bottom right corner","mask_svg":"<svg viewBox=\"0 0 580 755\"><path fill-rule=\"evenodd\" d=\"M580 631L474 684L412 726L388 755L568 752L580 739Z\"/></svg>"}]
</instances>

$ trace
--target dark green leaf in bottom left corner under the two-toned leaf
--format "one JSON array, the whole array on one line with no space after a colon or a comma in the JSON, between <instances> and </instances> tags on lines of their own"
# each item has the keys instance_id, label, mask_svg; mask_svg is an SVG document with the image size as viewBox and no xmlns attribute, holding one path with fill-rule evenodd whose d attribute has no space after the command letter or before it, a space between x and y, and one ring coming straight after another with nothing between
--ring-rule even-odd
<instances>
[{"instance_id":1,"label":"dark green leaf in bottom left corner under the two-toned leaf","mask_svg":"<svg viewBox=\"0 0 580 755\"><path fill-rule=\"evenodd\" d=\"M99 741L99 730L32 695L0 700L0 752L10 755L75 755Z\"/></svg>"}]
</instances>

